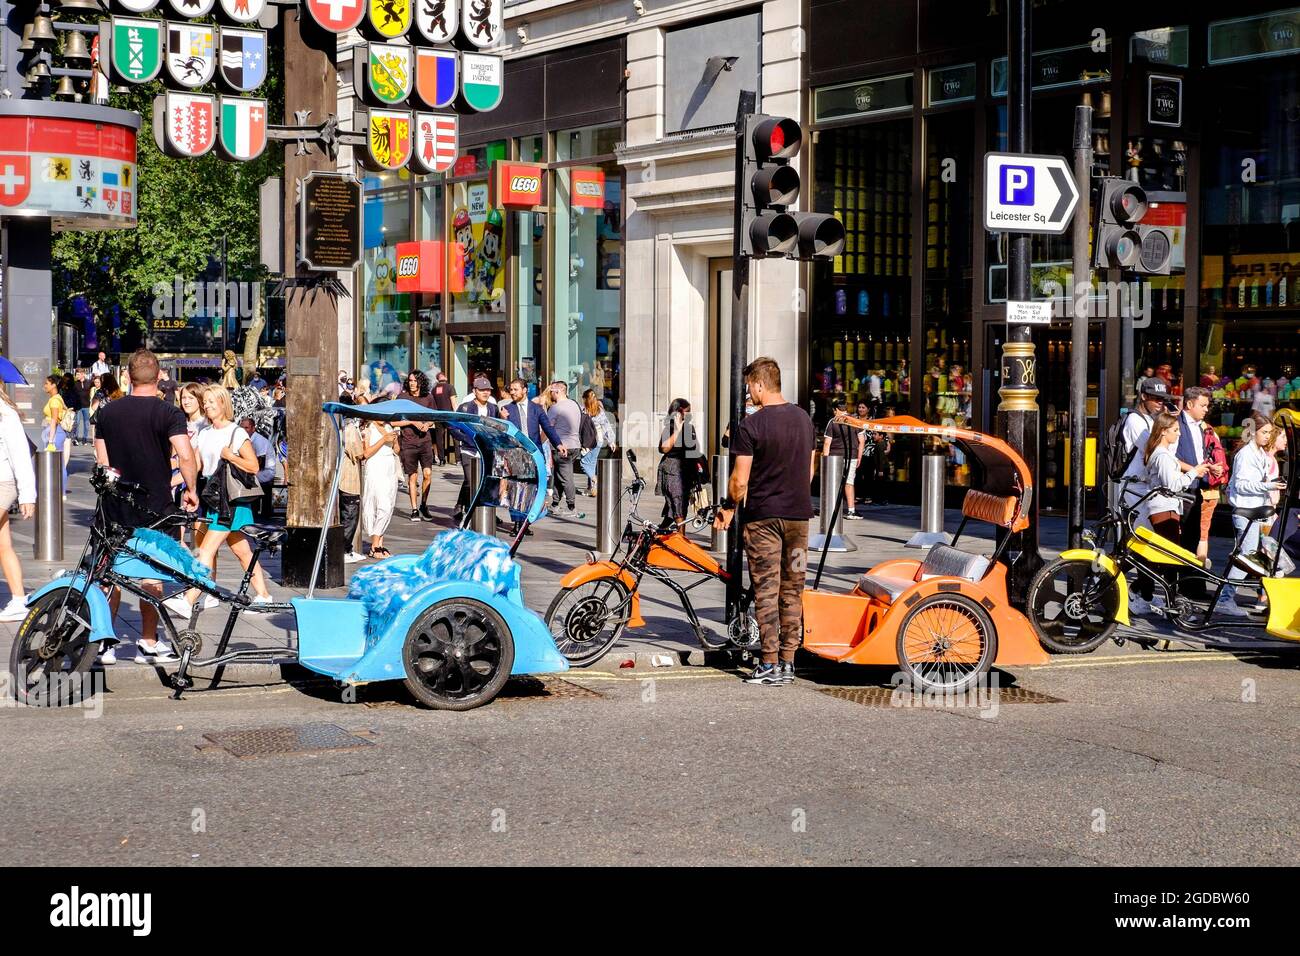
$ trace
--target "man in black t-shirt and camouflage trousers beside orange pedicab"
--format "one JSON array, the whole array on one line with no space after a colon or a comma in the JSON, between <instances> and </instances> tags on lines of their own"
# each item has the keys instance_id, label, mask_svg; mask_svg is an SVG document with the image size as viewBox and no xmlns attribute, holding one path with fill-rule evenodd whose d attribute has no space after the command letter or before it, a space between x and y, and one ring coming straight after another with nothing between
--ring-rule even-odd
<instances>
[{"instance_id":1,"label":"man in black t-shirt and camouflage trousers beside orange pedicab","mask_svg":"<svg viewBox=\"0 0 1300 956\"><path fill-rule=\"evenodd\" d=\"M714 527L728 527L736 502L744 502L741 529L763 657L746 680L789 684L802 636L816 431L809 414L781 395L781 368L775 359L749 363L745 384L758 411L733 431L736 462Z\"/></svg>"}]
</instances>

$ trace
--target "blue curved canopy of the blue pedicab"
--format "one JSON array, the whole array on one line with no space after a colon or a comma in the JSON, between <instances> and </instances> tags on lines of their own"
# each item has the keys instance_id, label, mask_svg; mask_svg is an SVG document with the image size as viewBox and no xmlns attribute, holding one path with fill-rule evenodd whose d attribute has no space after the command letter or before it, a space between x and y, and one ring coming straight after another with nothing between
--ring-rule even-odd
<instances>
[{"instance_id":1,"label":"blue curved canopy of the blue pedicab","mask_svg":"<svg viewBox=\"0 0 1300 956\"><path fill-rule=\"evenodd\" d=\"M446 425L459 441L474 445L481 460L490 463L482 472L476 503L510 509L511 519L536 522L546 507L546 459L532 440L506 419L426 408L408 398L370 405L326 402L321 411L334 418L367 421L429 421ZM342 453L341 453L342 454Z\"/></svg>"}]
</instances>

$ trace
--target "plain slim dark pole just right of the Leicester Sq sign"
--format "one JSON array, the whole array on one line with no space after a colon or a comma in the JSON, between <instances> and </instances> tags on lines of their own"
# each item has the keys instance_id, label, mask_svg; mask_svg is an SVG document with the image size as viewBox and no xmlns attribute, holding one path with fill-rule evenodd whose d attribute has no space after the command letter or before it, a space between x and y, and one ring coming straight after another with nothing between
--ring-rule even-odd
<instances>
[{"instance_id":1,"label":"plain slim dark pole just right of the Leicester Sq sign","mask_svg":"<svg viewBox=\"0 0 1300 956\"><path fill-rule=\"evenodd\" d=\"M1074 319L1070 325L1070 546L1083 540L1084 449L1088 436L1088 303L1092 293L1092 261L1088 255L1089 185L1092 181L1092 107L1074 108L1074 182L1079 206L1074 211Z\"/></svg>"}]
</instances>

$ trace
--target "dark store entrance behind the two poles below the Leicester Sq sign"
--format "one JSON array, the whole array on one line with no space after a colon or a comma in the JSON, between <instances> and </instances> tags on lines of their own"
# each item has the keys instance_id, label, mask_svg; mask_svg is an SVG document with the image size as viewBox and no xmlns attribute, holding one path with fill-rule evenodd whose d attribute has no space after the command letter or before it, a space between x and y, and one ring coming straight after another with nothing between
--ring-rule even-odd
<instances>
[{"instance_id":1,"label":"dark store entrance behind the two poles below the Leicester Sq sign","mask_svg":"<svg viewBox=\"0 0 1300 956\"><path fill-rule=\"evenodd\" d=\"M1037 386L1039 386L1039 509L1046 512L1065 514L1070 498L1070 326L1052 325L1035 333L1037 346ZM1002 386L1002 342L1006 341L1006 325L989 323L985 332L984 369L984 408L982 431L997 433L997 390ZM1101 323L1088 325L1088 394L1084 398L1087 410L1087 453L1091 467L1088 477L1092 489L1100 481L1100 454L1102 423L1114 416L1118 407L1105 407L1105 397L1100 382L1106 380L1105 367L1105 326Z\"/></svg>"}]
</instances>

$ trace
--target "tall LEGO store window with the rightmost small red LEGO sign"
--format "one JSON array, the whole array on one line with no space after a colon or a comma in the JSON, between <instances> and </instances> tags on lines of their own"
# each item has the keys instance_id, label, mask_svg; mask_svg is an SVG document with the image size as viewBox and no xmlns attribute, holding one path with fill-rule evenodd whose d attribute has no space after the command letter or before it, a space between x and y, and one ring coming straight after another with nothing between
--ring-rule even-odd
<instances>
[{"instance_id":1,"label":"tall LEGO store window with the rightmost small red LEGO sign","mask_svg":"<svg viewBox=\"0 0 1300 956\"><path fill-rule=\"evenodd\" d=\"M621 364L623 179L612 152L619 126L558 134L552 282L554 367L575 397L586 389L615 410Z\"/></svg>"}]
</instances>

